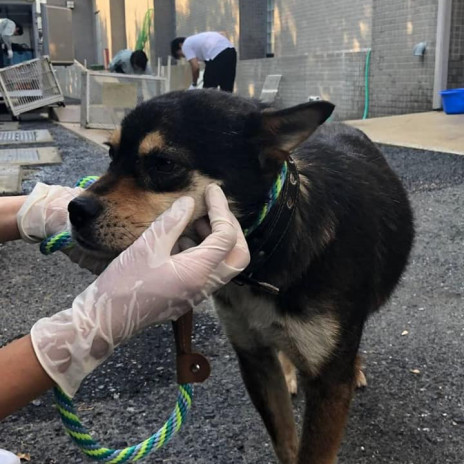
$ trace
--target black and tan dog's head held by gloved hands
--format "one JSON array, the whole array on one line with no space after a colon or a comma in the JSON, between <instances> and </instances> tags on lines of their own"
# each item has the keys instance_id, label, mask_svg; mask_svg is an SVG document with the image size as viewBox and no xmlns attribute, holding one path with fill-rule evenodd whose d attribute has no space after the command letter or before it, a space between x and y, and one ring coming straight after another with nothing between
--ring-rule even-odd
<instances>
[{"instance_id":1,"label":"black and tan dog's head held by gloved hands","mask_svg":"<svg viewBox=\"0 0 464 464\"><path fill-rule=\"evenodd\" d=\"M331 114L313 102L286 110L216 90L172 92L135 108L109 141L107 173L69 205L84 248L115 256L179 197L222 186L242 226L250 225L289 152Z\"/></svg>"}]
</instances>

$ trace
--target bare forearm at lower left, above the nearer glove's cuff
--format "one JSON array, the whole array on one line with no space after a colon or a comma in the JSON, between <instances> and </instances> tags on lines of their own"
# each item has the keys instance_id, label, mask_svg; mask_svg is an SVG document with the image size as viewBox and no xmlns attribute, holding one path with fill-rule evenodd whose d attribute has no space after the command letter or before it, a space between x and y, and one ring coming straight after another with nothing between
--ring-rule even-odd
<instances>
[{"instance_id":1,"label":"bare forearm at lower left, above the nearer glove's cuff","mask_svg":"<svg viewBox=\"0 0 464 464\"><path fill-rule=\"evenodd\" d=\"M54 386L26 335L0 348L0 420Z\"/></svg>"}]
</instances>

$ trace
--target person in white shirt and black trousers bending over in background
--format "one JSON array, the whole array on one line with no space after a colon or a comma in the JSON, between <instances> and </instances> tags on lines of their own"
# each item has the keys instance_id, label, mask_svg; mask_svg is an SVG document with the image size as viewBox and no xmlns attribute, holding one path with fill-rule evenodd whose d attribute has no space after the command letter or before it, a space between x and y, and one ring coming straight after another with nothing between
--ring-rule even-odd
<instances>
[{"instance_id":1,"label":"person in white shirt and black trousers bending over in background","mask_svg":"<svg viewBox=\"0 0 464 464\"><path fill-rule=\"evenodd\" d=\"M234 90L237 52L232 43L219 32L201 32L190 37L177 37L171 42L175 59L185 58L192 69L195 88L200 75L200 61L205 63L203 88L216 88L226 92Z\"/></svg>"}]
</instances>

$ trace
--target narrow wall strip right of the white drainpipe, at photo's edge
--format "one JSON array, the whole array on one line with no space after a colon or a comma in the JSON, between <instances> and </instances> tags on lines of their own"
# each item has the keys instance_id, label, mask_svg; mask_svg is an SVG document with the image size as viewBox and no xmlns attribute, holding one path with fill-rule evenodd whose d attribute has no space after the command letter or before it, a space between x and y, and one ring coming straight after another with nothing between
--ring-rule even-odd
<instances>
[{"instance_id":1,"label":"narrow wall strip right of the white drainpipe, at photo's edge","mask_svg":"<svg viewBox=\"0 0 464 464\"><path fill-rule=\"evenodd\" d=\"M464 0L453 0L448 88L464 87Z\"/></svg>"}]
</instances>

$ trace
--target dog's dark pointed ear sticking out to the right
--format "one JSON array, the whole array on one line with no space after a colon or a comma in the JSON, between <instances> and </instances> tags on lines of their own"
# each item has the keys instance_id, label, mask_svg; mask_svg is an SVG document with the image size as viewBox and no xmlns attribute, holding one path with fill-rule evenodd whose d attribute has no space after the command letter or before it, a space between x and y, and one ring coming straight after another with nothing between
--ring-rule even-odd
<instances>
[{"instance_id":1,"label":"dog's dark pointed ear sticking out to the right","mask_svg":"<svg viewBox=\"0 0 464 464\"><path fill-rule=\"evenodd\" d=\"M303 103L284 110L264 110L261 130L277 151L288 152L306 140L332 114L327 101ZM277 146L276 146L277 145Z\"/></svg>"}]
</instances>

